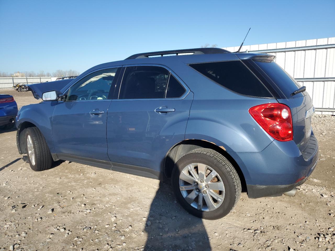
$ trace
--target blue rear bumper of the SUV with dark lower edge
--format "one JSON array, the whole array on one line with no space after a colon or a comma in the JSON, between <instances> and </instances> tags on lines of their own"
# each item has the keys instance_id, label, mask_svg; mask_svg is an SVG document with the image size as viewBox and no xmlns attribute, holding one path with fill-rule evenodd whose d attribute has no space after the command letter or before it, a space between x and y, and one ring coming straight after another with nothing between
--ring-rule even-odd
<instances>
[{"instance_id":1,"label":"blue rear bumper of the SUV with dark lower edge","mask_svg":"<svg viewBox=\"0 0 335 251\"><path fill-rule=\"evenodd\" d=\"M293 141L276 140L259 153L230 153L244 174L249 198L280 196L303 184L319 159L313 134L308 143L308 153L300 152Z\"/></svg>"}]
</instances>

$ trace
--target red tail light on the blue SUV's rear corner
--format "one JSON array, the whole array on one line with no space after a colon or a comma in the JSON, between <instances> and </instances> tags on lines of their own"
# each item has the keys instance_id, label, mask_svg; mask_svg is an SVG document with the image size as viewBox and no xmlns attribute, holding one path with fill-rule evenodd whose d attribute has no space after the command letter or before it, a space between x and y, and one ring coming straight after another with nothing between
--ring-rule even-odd
<instances>
[{"instance_id":1,"label":"red tail light on the blue SUV's rear corner","mask_svg":"<svg viewBox=\"0 0 335 251\"><path fill-rule=\"evenodd\" d=\"M287 105L280 103L256 105L249 109L249 113L274 139L293 140L292 115Z\"/></svg>"}]
</instances>

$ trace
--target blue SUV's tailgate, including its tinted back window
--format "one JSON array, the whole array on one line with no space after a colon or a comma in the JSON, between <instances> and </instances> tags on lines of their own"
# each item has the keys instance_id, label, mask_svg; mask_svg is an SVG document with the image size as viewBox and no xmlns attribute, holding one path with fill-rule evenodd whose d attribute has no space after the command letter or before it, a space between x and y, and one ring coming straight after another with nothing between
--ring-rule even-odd
<instances>
[{"instance_id":1,"label":"blue SUV's tailgate, including its tinted back window","mask_svg":"<svg viewBox=\"0 0 335 251\"><path fill-rule=\"evenodd\" d=\"M314 113L312 99L306 91L293 95L301 86L279 65L271 60L253 60L260 73L279 93L276 97L279 103L286 104L291 109L293 122L293 141L303 152L311 137L311 120Z\"/></svg>"}]
</instances>

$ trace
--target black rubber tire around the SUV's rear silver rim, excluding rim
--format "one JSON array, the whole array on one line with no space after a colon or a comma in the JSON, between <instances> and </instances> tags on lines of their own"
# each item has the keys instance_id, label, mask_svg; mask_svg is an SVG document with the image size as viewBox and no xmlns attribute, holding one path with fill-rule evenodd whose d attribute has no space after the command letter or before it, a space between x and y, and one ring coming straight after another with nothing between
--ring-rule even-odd
<instances>
[{"instance_id":1,"label":"black rubber tire around the SUV's rear silver rim, excluding rim","mask_svg":"<svg viewBox=\"0 0 335 251\"><path fill-rule=\"evenodd\" d=\"M192 163L202 163L211 167L221 177L225 195L222 204L213 211L204 212L190 205L179 188L179 176L182 170ZM232 164L218 152L199 148L181 157L174 166L171 176L172 188L179 203L190 214L207 220L216 220L226 216L238 202L241 195L241 181Z\"/></svg>"}]
</instances>

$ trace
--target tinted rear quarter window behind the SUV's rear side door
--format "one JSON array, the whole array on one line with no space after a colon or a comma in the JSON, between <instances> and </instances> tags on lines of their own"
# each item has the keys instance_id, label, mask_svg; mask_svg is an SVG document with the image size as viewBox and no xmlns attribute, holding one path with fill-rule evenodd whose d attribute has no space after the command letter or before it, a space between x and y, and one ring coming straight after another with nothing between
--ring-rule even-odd
<instances>
[{"instance_id":1,"label":"tinted rear quarter window behind the SUV's rear side door","mask_svg":"<svg viewBox=\"0 0 335 251\"><path fill-rule=\"evenodd\" d=\"M191 64L193 69L225 88L255 97L272 97L241 61Z\"/></svg>"}]
</instances>

